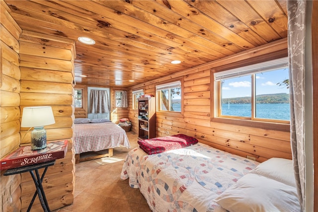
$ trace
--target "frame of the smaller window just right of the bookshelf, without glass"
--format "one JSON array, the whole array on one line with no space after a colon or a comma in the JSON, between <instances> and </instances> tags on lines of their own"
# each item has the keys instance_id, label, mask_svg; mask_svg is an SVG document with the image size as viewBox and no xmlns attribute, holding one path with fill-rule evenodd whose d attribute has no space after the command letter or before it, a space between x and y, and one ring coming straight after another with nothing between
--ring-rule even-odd
<instances>
[{"instance_id":1,"label":"frame of the smaller window just right of the bookshelf, without glass","mask_svg":"<svg viewBox=\"0 0 318 212\"><path fill-rule=\"evenodd\" d=\"M159 113L168 113L168 114L183 114L183 89L182 89L182 80L181 79L175 79L173 81L170 81L170 82L166 82L166 83L163 83L163 84L157 84L156 85L156 100L157 100L157 109L156 111L159 112ZM170 88L174 88L176 87L176 85L180 85L180 92L181 92L181 99L180 99L180 111L170 111L170 110L160 110L160 90L162 89L170 89ZM170 104L169 104L170 105Z\"/></svg>"}]
</instances>

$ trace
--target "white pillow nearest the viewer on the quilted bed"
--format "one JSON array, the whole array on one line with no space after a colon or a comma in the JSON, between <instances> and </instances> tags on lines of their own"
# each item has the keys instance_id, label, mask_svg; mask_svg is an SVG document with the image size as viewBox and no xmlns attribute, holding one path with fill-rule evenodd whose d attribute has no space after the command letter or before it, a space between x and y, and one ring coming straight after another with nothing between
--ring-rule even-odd
<instances>
[{"instance_id":1,"label":"white pillow nearest the viewer on the quilted bed","mask_svg":"<svg viewBox=\"0 0 318 212\"><path fill-rule=\"evenodd\" d=\"M248 173L215 199L231 212L300 212L295 187Z\"/></svg>"}]
</instances>

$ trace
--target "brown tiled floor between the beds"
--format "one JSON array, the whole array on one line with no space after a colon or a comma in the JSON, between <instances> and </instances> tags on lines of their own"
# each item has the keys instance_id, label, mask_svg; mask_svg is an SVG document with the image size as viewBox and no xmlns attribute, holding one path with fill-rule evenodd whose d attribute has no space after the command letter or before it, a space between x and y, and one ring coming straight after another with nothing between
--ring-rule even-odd
<instances>
[{"instance_id":1,"label":"brown tiled floor between the beds","mask_svg":"<svg viewBox=\"0 0 318 212\"><path fill-rule=\"evenodd\" d=\"M132 148L138 146L137 134L127 133ZM76 164L75 199L70 206L54 212L151 212L139 189L120 179L129 149L115 148L113 157Z\"/></svg>"}]
</instances>

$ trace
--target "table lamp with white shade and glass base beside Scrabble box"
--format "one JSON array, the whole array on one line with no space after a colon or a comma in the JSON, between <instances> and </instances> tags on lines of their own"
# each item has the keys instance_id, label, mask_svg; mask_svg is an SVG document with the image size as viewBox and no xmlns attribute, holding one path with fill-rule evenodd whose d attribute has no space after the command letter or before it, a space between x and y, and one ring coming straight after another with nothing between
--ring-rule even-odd
<instances>
[{"instance_id":1,"label":"table lamp with white shade and glass base beside Scrabble box","mask_svg":"<svg viewBox=\"0 0 318 212\"><path fill-rule=\"evenodd\" d=\"M55 123L51 106L23 108L21 127L34 127L31 132L31 149L46 147L46 130L44 126Z\"/></svg>"}]
</instances>

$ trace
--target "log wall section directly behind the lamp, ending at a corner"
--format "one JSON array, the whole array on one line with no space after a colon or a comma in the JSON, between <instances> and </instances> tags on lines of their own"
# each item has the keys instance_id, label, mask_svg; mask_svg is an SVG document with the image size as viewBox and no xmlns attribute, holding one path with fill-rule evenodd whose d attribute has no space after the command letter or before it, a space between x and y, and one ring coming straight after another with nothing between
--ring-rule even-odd
<instances>
[{"instance_id":1,"label":"log wall section directly behind the lamp, ending at a corner","mask_svg":"<svg viewBox=\"0 0 318 212\"><path fill-rule=\"evenodd\" d=\"M20 36L20 111L29 106L52 106L55 124L45 126L47 140L68 140L67 155L48 168L43 187L51 210L73 203L75 160L74 120L74 41L23 31ZM21 116L20 115L20 116ZM21 128L22 145L30 142L28 128ZM25 135L27 133L27 135ZM35 192L29 173L21 174L21 212L27 210ZM32 210L41 211L38 198Z\"/></svg>"}]
</instances>

